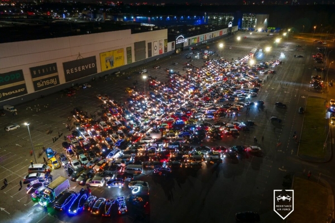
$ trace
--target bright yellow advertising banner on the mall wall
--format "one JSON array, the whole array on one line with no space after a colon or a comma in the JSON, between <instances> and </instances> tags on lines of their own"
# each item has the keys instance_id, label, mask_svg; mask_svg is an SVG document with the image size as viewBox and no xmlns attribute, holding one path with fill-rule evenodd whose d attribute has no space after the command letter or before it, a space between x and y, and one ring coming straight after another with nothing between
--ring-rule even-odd
<instances>
[{"instance_id":1,"label":"bright yellow advertising banner on the mall wall","mask_svg":"<svg viewBox=\"0 0 335 223\"><path fill-rule=\"evenodd\" d=\"M100 54L101 71L124 65L123 49L112 50Z\"/></svg>"}]
</instances>

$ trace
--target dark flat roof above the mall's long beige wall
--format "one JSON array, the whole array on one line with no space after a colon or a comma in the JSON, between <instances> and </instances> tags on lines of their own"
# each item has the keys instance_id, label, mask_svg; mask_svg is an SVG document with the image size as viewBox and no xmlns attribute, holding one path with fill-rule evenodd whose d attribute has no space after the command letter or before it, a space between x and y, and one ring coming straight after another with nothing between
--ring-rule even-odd
<instances>
[{"instance_id":1,"label":"dark flat roof above the mall's long beige wall","mask_svg":"<svg viewBox=\"0 0 335 223\"><path fill-rule=\"evenodd\" d=\"M10 19L0 20L0 43L60 38L65 36L90 33L110 32L131 29L131 33L148 32L161 28L141 26L136 22L97 22L76 19L54 20L46 22L41 19Z\"/></svg>"}]
</instances>

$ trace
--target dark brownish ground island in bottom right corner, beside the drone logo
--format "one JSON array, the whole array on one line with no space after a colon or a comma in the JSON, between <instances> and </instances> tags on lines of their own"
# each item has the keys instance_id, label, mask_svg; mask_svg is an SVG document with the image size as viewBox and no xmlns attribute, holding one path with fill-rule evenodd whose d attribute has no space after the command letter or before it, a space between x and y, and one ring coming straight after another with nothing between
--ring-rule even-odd
<instances>
[{"instance_id":1,"label":"dark brownish ground island in bottom right corner, beside the drone logo","mask_svg":"<svg viewBox=\"0 0 335 223\"><path fill-rule=\"evenodd\" d=\"M330 222L333 195L330 185L318 177L295 174L293 179L294 211L287 223Z\"/></svg>"}]
</instances>

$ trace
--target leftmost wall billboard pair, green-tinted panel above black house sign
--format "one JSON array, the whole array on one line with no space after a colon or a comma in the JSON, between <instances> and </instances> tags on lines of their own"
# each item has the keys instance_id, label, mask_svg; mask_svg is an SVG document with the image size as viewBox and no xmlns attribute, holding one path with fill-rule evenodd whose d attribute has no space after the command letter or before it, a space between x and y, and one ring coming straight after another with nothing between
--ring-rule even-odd
<instances>
[{"instance_id":1,"label":"leftmost wall billboard pair, green-tinted panel above black house sign","mask_svg":"<svg viewBox=\"0 0 335 223\"><path fill-rule=\"evenodd\" d=\"M0 101L27 94L22 70L0 73Z\"/></svg>"}]
</instances>

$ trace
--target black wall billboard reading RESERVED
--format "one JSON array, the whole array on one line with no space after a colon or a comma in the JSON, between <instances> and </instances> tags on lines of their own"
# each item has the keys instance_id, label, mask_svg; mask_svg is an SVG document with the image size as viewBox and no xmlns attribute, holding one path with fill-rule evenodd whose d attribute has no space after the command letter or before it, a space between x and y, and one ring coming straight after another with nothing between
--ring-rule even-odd
<instances>
[{"instance_id":1,"label":"black wall billboard reading RESERVED","mask_svg":"<svg viewBox=\"0 0 335 223\"><path fill-rule=\"evenodd\" d=\"M74 81L97 73L95 56L63 63L65 81Z\"/></svg>"}]
</instances>

